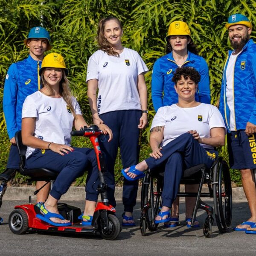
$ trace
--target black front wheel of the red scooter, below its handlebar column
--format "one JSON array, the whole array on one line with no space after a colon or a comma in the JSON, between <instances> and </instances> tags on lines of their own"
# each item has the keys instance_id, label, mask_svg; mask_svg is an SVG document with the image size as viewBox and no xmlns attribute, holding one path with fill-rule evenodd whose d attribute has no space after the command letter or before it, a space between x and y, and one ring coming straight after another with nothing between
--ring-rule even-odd
<instances>
[{"instance_id":1,"label":"black front wheel of the red scooter, below its handlebar column","mask_svg":"<svg viewBox=\"0 0 256 256\"><path fill-rule=\"evenodd\" d=\"M103 239L106 239L106 240L115 240L121 231L121 225L118 218L116 218L115 215L109 214L108 225L109 225L109 229L106 231L104 229L104 223L102 219L100 220L101 236Z\"/></svg>"}]
</instances>

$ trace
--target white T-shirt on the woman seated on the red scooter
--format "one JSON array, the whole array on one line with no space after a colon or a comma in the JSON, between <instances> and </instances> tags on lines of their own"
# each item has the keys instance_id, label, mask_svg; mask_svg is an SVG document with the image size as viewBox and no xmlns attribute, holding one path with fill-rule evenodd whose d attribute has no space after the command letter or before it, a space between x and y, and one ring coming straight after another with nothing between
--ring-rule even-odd
<instances>
[{"instance_id":1,"label":"white T-shirt on the woman seated on the red scooter","mask_svg":"<svg viewBox=\"0 0 256 256\"><path fill-rule=\"evenodd\" d=\"M81 115L77 100L72 97L72 101L75 113ZM40 91L27 96L22 107L22 118L26 117L35 117L34 136L36 138L70 145L74 116L62 97L52 98ZM33 151L35 148L28 147L26 158Z\"/></svg>"}]
</instances>

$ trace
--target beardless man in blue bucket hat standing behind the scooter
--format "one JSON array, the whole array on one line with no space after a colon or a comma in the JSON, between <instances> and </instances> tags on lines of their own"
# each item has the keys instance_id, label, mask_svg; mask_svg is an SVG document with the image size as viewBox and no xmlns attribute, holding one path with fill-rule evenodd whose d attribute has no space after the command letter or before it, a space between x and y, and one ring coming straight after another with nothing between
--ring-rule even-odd
<instances>
[{"instance_id":1,"label":"beardless man in blue bucket hat standing behind the scooter","mask_svg":"<svg viewBox=\"0 0 256 256\"><path fill-rule=\"evenodd\" d=\"M1 174L5 180L13 177L16 170L19 169L20 157L15 142L15 133L21 129L22 105L26 96L40 90L38 71L41 68L44 52L52 48L48 31L39 26L30 30L24 44L29 48L29 57L23 61L13 63L9 67L3 90L3 112L10 143L12 144L6 171ZM37 189L44 183L44 181L37 182ZM48 192L49 186L47 185L37 194L37 201L45 201Z\"/></svg>"}]
</instances>

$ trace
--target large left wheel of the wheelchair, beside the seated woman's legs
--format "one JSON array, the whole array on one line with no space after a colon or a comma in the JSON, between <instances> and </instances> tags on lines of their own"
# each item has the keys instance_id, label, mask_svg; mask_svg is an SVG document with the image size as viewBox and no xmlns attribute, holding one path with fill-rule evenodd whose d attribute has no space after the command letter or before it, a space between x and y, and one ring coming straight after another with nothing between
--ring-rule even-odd
<instances>
[{"instance_id":1,"label":"large left wheel of the wheelchair, beside the seated woman's legs","mask_svg":"<svg viewBox=\"0 0 256 256\"><path fill-rule=\"evenodd\" d=\"M159 211L160 200L160 182L154 182L154 178L147 172L143 180L141 191L141 209L146 216L146 227L148 227L150 231L157 230L158 224L155 224L154 220Z\"/></svg>"}]
</instances>

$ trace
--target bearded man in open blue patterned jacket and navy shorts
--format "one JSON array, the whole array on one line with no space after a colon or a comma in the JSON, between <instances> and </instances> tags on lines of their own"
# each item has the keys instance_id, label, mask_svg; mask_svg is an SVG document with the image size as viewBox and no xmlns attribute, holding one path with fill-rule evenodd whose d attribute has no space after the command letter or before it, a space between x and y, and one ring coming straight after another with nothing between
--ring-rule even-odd
<instances>
[{"instance_id":1,"label":"bearded man in open blue patterned jacket and navy shorts","mask_svg":"<svg viewBox=\"0 0 256 256\"><path fill-rule=\"evenodd\" d=\"M256 44L250 39L252 23L241 14L225 25L234 50L228 51L221 85L220 111L227 126L229 161L239 169L251 217L236 231L256 233Z\"/></svg>"}]
</instances>

